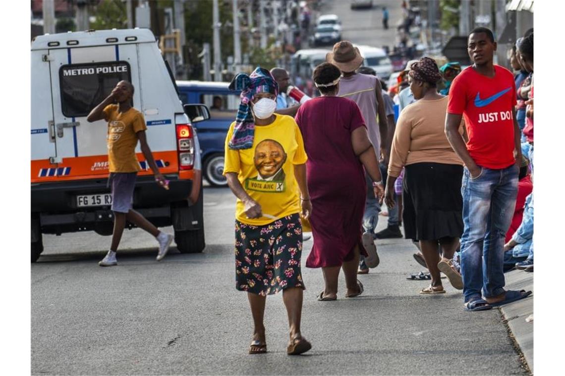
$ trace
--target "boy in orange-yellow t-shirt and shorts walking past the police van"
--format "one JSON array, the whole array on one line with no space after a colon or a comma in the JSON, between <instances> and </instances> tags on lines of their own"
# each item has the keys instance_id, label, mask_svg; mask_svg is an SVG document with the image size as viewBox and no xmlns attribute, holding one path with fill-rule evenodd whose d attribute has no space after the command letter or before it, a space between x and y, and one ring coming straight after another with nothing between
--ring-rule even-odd
<instances>
[{"instance_id":1,"label":"boy in orange-yellow t-shirt and shorts walking past the police van","mask_svg":"<svg viewBox=\"0 0 565 376\"><path fill-rule=\"evenodd\" d=\"M167 254L173 240L171 234L159 231L151 222L140 213L132 209L133 189L136 185L137 172L141 171L140 163L136 157L137 141L141 145L141 152L153 174L155 181L164 189L168 189L167 181L160 174L157 164L147 144L145 120L143 114L133 108L134 87L128 81L120 81L102 103L90 111L86 120L94 122L106 120L108 122L108 163L110 177L108 184L112 189L112 211L114 212L114 232L112 244L105 258L98 263L99 266L116 266L116 251L124 232L125 221L133 223L153 235L159 243L157 261Z\"/></svg>"}]
</instances>

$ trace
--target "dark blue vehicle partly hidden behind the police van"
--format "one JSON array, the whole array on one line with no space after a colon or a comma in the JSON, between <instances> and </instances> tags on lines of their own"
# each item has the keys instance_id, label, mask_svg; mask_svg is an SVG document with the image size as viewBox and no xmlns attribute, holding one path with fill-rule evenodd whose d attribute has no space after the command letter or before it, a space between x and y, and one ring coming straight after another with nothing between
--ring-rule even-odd
<instances>
[{"instance_id":1,"label":"dark blue vehicle partly hidden behind the police van","mask_svg":"<svg viewBox=\"0 0 565 376\"><path fill-rule=\"evenodd\" d=\"M224 141L229 125L236 120L240 92L228 89L228 82L177 81L182 104L206 104L210 119L194 123L202 150L202 173L208 183L225 187Z\"/></svg>"}]
</instances>

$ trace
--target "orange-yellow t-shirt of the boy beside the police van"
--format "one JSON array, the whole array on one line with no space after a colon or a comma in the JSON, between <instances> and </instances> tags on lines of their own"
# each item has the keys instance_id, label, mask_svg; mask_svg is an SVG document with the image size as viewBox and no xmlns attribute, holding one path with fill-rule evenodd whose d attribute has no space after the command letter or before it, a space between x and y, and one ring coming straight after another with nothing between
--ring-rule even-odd
<instances>
[{"instance_id":1,"label":"orange-yellow t-shirt of the boy beside the police van","mask_svg":"<svg viewBox=\"0 0 565 376\"><path fill-rule=\"evenodd\" d=\"M130 108L119 112L118 104L110 104L104 108L108 120L108 162L110 172L141 171L136 157L137 132L147 129L141 112Z\"/></svg>"}]
</instances>

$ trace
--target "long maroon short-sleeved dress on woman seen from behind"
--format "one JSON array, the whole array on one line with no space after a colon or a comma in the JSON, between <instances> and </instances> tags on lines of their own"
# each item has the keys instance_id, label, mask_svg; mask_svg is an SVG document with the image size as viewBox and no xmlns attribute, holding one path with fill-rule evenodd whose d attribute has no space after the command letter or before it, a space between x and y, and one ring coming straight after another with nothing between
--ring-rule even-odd
<instances>
[{"instance_id":1,"label":"long maroon short-sleeved dress on woman seen from behind","mask_svg":"<svg viewBox=\"0 0 565 376\"><path fill-rule=\"evenodd\" d=\"M312 200L314 246L306 267L341 266L354 257L361 241L367 185L362 163L351 145L351 132L364 127L354 101L337 96L308 100L296 114L308 155L306 170Z\"/></svg>"}]
</instances>

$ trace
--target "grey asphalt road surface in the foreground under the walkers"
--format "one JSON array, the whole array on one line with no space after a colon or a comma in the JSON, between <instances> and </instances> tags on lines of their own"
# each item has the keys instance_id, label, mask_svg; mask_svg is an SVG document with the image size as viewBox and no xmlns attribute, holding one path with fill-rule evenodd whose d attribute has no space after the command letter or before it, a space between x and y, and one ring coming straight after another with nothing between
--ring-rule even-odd
<instances>
[{"instance_id":1,"label":"grey asphalt road surface in the foreground under the walkers","mask_svg":"<svg viewBox=\"0 0 565 376\"><path fill-rule=\"evenodd\" d=\"M451 286L422 296L421 267L406 240L377 243L381 264L360 276L366 292L318 302L319 269L304 264L302 333L313 348L286 355L281 294L268 298L264 355L247 355L251 316L234 288L234 197L205 189L206 250L162 262L154 239L124 233L118 267L101 268L110 237L45 236L32 264L32 374L524 374L498 309L464 312ZM385 225L381 217L380 227ZM446 282L447 283L447 282Z\"/></svg>"}]
</instances>

